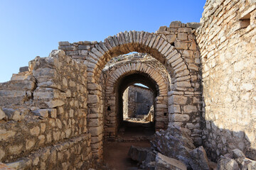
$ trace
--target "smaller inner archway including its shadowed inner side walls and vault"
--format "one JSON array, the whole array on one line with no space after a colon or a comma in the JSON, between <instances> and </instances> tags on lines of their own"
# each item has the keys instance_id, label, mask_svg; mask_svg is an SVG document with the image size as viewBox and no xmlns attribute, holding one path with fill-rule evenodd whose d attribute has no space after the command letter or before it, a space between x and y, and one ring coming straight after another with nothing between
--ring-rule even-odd
<instances>
[{"instance_id":1,"label":"smaller inner archway including its shadowed inner side walls and vault","mask_svg":"<svg viewBox=\"0 0 256 170\"><path fill-rule=\"evenodd\" d=\"M141 56L141 57L139 57ZM124 56L123 56L124 57ZM102 79L105 79L104 137L117 137L120 125L124 120L122 94L128 86L135 83L144 84L152 91L154 103L154 130L165 129L169 123L168 91L171 79L161 63L150 55L134 54L114 58L119 62L111 62L105 67ZM117 102L119 101L119 103Z\"/></svg>"}]
</instances>

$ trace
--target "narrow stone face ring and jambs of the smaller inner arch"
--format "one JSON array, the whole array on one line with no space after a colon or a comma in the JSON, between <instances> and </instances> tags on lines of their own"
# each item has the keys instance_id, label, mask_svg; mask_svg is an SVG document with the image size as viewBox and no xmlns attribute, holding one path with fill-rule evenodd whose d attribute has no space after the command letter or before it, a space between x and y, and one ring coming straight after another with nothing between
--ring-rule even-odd
<instances>
[{"instance_id":1,"label":"narrow stone face ring and jambs of the smaller inner arch","mask_svg":"<svg viewBox=\"0 0 256 170\"><path fill-rule=\"evenodd\" d=\"M129 61L122 64L118 64L117 67L112 67L107 72L107 81L105 83L105 108L104 108L104 117L105 117L105 137L116 135L117 132L117 123L107 123L107 120L117 121L117 86L118 81L122 77L126 77L131 74L146 74L149 79L155 82L156 90L158 94L155 98L155 117L156 117L156 130L164 129L168 125L168 89L169 84L169 74L157 68L154 64L138 62L138 61ZM135 81L134 81L135 82ZM134 83L132 82L132 84ZM135 82L136 83L136 82ZM128 85L127 85L128 86ZM110 107L111 111L107 111L107 108ZM113 118L114 117L114 118ZM113 121L110 121L113 122ZM114 127L114 128L113 128Z\"/></svg>"}]
</instances>

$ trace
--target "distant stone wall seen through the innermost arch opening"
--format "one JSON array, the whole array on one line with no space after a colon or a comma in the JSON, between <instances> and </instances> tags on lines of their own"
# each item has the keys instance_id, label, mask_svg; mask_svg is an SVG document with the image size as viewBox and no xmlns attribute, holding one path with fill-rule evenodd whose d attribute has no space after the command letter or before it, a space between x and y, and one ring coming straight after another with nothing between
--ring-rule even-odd
<instances>
[{"instance_id":1,"label":"distant stone wall seen through the innermost arch opening","mask_svg":"<svg viewBox=\"0 0 256 170\"><path fill-rule=\"evenodd\" d=\"M125 95L125 91L127 94ZM124 118L137 118L137 115L147 115L153 105L154 96L150 89L142 86L129 86L123 94L123 100L127 98L127 109L124 107Z\"/></svg>"}]
</instances>

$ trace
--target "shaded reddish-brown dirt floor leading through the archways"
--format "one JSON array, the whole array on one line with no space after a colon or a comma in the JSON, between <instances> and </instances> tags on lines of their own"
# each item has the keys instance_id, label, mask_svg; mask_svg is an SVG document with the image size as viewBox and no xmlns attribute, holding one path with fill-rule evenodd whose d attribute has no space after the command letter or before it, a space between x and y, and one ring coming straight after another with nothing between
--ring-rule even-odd
<instances>
[{"instance_id":1,"label":"shaded reddish-brown dirt floor leading through the archways","mask_svg":"<svg viewBox=\"0 0 256 170\"><path fill-rule=\"evenodd\" d=\"M138 137L150 137L154 135L154 126L149 123L131 123L126 122L124 127L120 128L119 138L122 142L104 142L103 157L104 162L112 169L116 170L134 170L137 169L137 162L128 157L129 148L134 145L138 147L150 147L149 140L132 141Z\"/></svg>"}]
</instances>

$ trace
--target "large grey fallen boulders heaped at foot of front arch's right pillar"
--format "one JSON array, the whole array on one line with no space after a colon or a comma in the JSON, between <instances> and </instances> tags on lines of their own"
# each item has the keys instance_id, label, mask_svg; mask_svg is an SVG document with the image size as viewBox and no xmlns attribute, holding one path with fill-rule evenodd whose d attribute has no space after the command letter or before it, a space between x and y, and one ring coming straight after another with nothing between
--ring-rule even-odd
<instances>
[{"instance_id":1,"label":"large grey fallen boulders heaped at foot of front arch's right pillar","mask_svg":"<svg viewBox=\"0 0 256 170\"><path fill-rule=\"evenodd\" d=\"M150 149L132 146L129 156L142 163L142 169L210 169L203 147L196 148L185 130L173 125L156 132Z\"/></svg>"}]
</instances>

